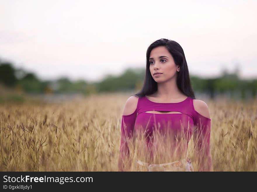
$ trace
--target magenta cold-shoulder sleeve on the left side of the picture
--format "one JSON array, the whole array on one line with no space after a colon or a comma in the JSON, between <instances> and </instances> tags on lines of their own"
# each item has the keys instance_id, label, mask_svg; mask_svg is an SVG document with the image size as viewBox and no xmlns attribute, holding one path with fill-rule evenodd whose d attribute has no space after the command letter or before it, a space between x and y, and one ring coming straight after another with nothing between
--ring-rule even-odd
<instances>
[{"instance_id":1,"label":"magenta cold-shoulder sleeve on the left side of the picture","mask_svg":"<svg viewBox=\"0 0 257 192\"><path fill-rule=\"evenodd\" d=\"M131 162L128 161L130 150L129 141L133 138L134 126L136 121L136 110L130 115L122 115L121 118L121 141L119 150L119 171L126 171L130 166Z\"/></svg>"}]
</instances>

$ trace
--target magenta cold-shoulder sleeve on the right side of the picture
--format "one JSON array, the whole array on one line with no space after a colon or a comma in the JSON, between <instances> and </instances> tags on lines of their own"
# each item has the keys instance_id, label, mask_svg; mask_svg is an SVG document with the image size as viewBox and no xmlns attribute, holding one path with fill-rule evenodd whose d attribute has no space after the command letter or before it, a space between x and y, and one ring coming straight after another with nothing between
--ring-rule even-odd
<instances>
[{"instance_id":1,"label":"magenta cold-shoulder sleeve on the right side of the picture","mask_svg":"<svg viewBox=\"0 0 257 192\"><path fill-rule=\"evenodd\" d=\"M195 156L198 160L198 171L211 171L212 161L210 152L211 119L204 117L194 110Z\"/></svg>"}]
</instances>

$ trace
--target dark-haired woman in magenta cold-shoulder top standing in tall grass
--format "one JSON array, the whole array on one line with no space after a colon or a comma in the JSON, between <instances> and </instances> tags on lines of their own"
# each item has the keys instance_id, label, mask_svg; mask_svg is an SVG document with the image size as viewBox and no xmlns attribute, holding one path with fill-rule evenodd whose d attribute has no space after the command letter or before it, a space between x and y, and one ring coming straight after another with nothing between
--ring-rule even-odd
<instances>
[{"instance_id":1,"label":"dark-haired woman in magenta cold-shoulder top standing in tall grass","mask_svg":"<svg viewBox=\"0 0 257 192\"><path fill-rule=\"evenodd\" d=\"M143 88L126 101L122 114L119 170L129 170L136 159L141 170L193 171L186 155L193 136L198 171L211 171L209 109L195 99L182 47L159 39L146 58ZM131 157L131 150L140 153Z\"/></svg>"}]
</instances>

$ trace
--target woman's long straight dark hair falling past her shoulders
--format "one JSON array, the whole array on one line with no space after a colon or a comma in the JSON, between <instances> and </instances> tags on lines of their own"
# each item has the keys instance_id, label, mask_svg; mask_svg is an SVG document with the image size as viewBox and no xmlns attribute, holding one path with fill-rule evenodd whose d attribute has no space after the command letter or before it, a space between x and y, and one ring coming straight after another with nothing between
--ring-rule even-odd
<instances>
[{"instance_id":1,"label":"woman's long straight dark hair falling past her shoulders","mask_svg":"<svg viewBox=\"0 0 257 192\"><path fill-rule=\"evenodd\" d=\"M180 91L182 91L188 97L195 99L195 94L191 86L187 61L185 58L184 51L180 44L176 41L172 41L169 39L159 39L154 41L148 48L146 52L146 71L145 71L145 82L143 84L143 88L135 95L137 97L143 97L150 94L153 94L157 91L157 82L152 78L149 66L149 57L152 49L164 46L171 53L174 62L176 65L180 65L180 71L177 72L177 86Z\"/></svg>"}]
</instances>

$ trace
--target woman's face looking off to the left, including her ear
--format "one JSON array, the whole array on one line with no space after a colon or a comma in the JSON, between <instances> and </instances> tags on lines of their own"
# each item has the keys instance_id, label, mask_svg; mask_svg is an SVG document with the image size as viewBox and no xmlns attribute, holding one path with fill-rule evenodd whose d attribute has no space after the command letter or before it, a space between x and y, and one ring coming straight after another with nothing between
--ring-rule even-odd
<instances>
[{"instance_id":1,"label":"woman's face looking off to the left, including her ear","mask_svg":"<svg viewBox=\"0 0 257 192\"><path fill-rule=\"evenodd\" d=\"M174 63L171 53L164 46L152 49L149 63L151 75L157 83L166 82L169 79L176 77L177 71L180 70L180 66ZM162 74L154 75L155 72L160 72Z\"/></svg>"}]
</instances>

